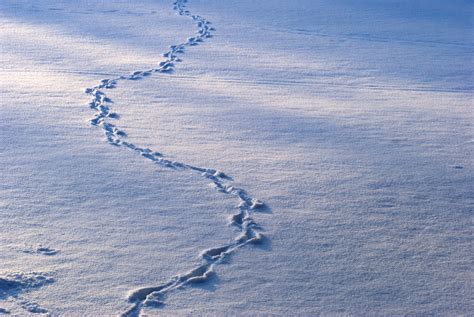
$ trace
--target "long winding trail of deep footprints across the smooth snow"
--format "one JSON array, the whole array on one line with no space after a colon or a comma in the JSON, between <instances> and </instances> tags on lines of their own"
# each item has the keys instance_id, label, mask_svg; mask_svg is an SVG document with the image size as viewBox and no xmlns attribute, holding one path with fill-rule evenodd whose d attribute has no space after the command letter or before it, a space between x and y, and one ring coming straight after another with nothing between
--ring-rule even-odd
<instances>
[{"instance_id":1,"label":"long winding trail of deep footprints across the smooth snow","mask_svg":"<svg viewBox=\"0 0 474 317\"><path fill-rule=\"evenodd\" d=\"M261 243L264 239L261 227L251 217L252 212L266 208L263 202L252 198L244 189L233 186L231 183L232 179L223 172L185 162L168 160L162 153L127 142L126 132L111 123L112 120L118 119L119 115L111 110L112 100L107 97L104 92L105 90L115 88L118 82L122 80L143 79L153 73L172 73L175 70L176 63L181 62L180 55L184 53L186 48L198 45L205 39L212 37L211 33L214 31L214 28L210 26L211 23L201 16L192 14L187 10L186 3L186 0L176 0L173 4L173 9L180 16L194 20L198 27L197 33L182 43L171 45L169 50L163 54L163 60L157 67L144 71L135 71L129 75L113 79L103 79L100 84L85 89L85 93L91 96L89 107L95 111L90 123L102 130L110 145L127 148L143 158L166 168L199 174L201 177L209 180L217 191L234 196L238 200L237 211L231 216L230 223L238 229L238 235L229 244L201 251L199 254L200 263L190 271L173 276L162 284L131 291L128 296L131 307L122 314L122 316L127 317L139 316L143 307L163 306L166 297L171 292L186 285L205 282L214 273L214 267L222 263L231 254L245 245Z\"/></svg>"}]
</instances>

